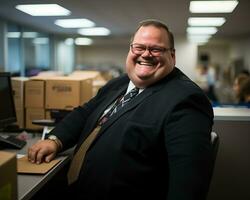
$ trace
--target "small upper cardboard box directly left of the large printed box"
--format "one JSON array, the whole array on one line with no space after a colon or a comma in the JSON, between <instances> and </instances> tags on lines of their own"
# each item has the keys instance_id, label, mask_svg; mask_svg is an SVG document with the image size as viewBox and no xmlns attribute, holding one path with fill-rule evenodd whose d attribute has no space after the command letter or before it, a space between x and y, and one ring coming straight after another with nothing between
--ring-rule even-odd
<instances>
[{"instance_id":1,"label":"small upper cardboard box directly left of the large printed box","mask_svg":"<svg viewBox=\"0 0 250 200\"><path fill-rule=\"evenodd\" d=\"M25 107L44 108L45 80L29 80L25 83Z\"/></svg>"}]
</instances>

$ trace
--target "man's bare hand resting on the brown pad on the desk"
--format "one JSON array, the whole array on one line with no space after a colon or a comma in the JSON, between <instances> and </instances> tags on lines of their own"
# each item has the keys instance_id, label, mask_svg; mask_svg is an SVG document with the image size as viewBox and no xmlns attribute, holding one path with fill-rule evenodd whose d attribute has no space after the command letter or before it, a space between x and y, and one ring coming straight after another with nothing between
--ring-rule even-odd
<instances>
[{"instance_id":1,"label":"man's bare hand resting on the brown pad on the desk","mask_svg":"<svg viewBox=\"0 0 250 200\"><path fill-rule=\"evenodd\" d=\"M58 145L52 140L39 140L29 147L28 159L32 163L50 162L58 152Z\"/></svg>"}]
</instances>

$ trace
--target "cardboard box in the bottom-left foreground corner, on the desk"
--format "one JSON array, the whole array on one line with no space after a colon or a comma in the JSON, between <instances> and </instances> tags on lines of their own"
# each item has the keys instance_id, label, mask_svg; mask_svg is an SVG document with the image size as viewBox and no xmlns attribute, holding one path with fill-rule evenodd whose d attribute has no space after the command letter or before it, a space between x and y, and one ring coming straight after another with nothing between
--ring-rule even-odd
<instances>
[{"instance_id":1,"label":"cardboard box in the bottom-left foreground corner, on the desk","mask_svg":"<svg viewBox=\"0 0 250 200\"><path fill-rule=\"evenodd\" d=\"M0 151L0 199L17 199L16 154Z\"/></svg>"}]
</instances>

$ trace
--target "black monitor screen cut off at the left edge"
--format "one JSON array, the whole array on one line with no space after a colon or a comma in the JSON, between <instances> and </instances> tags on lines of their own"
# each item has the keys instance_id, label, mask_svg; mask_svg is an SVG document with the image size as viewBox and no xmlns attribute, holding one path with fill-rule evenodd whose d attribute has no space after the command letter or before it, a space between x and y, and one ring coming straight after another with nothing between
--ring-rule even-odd
<instances>
[{"instance_id":1,"label":"black monitor screen cut off at the left edge","mask_svg":"<svg viewBox=\"0 0 250 200\"><path fill-rule=\"evenodd\" d=\"M16 122L16 120L11 74L0 72L0 129Z\"/></svg>"}]
</instances>

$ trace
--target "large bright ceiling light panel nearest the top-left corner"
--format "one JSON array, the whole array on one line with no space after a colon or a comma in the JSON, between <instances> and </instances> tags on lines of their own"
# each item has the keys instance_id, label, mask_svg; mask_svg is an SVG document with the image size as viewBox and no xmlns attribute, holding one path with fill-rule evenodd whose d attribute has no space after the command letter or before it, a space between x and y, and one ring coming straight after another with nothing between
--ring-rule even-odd
<instances>
[{"instance_id":1,"label":"large bright ceiling light panel nearest the top-left corner","mask_svg":"<svg viewBox=\"0 0 250 200\"><path fill-rule=\"evenodd\" d=\"M16 9L32 16L67 16L71 13L58 4L17 5Z\"/></svg>"}]
</instances>

